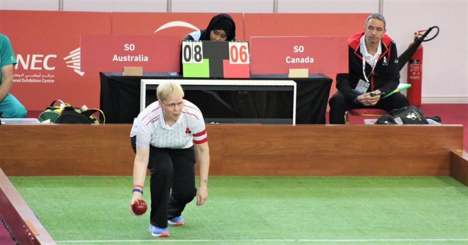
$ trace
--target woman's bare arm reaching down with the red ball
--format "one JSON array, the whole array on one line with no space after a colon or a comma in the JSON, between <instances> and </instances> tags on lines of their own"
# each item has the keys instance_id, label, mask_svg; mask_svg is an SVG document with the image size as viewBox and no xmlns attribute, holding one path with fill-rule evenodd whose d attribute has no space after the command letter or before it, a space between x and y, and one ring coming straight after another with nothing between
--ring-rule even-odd
<instances>
[{"instance_id":1,"label":"woman's bare arm reaching down with the red ball","mask_svg":"<svg viewBox=\"0 0 468 245\"><path fill-rule=\"evenodd\" d=\"M136 146L136 156L135 162L133 163L133 185L144 185L146 178L146 168L148 167L149 160L149 147L140 147ZM141 193L133 192L130 202L130 213L133 213L131 210L131 205L136 201L141 199Z\"/></svg>"}]
</instances>

